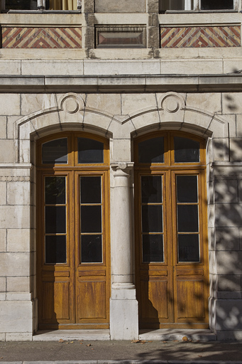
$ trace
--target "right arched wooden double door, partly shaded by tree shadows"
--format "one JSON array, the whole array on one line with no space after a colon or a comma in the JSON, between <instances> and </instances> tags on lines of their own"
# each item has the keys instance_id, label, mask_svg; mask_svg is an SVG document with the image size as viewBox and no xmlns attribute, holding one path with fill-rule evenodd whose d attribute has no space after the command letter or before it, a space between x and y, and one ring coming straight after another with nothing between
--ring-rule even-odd
<instances>
[{"instance_id":1,"label":"right arched wooden double door, partly shaded by tree shadows","mask_svg":"<svg viewBox=\"0 0 242 364\"><path fill-rule=\"evenodd\" d=\"M205 141L155 132L134 151L140 327L207 328Z\"/></svg>"}]
</instances>

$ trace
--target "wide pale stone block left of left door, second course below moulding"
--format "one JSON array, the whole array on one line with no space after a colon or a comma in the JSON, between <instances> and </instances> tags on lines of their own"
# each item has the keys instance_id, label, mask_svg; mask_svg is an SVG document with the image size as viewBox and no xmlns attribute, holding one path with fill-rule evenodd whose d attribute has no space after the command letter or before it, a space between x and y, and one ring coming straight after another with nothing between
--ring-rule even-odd
<instances>
[{"instance_id":1,"label":"wide pale stone block left of left door, second course below moulding","mask_svg":"<svg viewBox=\"0 0 242 364\"><path fill-rule=\"evenodd\" d=\"M0 206L0 228L30 228L29 206Z\"/></svg>"}]
</instances>

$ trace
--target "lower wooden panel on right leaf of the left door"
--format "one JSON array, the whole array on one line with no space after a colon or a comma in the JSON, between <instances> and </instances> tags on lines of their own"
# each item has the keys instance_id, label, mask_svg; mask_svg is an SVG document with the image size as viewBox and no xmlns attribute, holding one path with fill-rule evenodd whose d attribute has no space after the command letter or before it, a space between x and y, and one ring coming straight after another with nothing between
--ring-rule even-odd
<instances>
[{"instance_id":1,"label":"lower wooden panel on right leaf of the left door","mask_svg":"<svg viewBox=\"0 0 242 364\"><path fill-rule=\"evenodd\" d=\"M77 315L81 320L106 319L106 282L103 280L78 281Z\"/></svg>"}]
</instances>

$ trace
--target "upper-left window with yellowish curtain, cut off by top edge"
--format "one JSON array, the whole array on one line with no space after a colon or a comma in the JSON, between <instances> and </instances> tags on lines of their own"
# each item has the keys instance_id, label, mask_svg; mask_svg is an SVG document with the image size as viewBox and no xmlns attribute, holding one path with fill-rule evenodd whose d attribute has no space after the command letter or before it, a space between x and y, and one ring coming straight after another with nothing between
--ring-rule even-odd
<instances>
[{"instance_id":1,"label":"upper-left window with yellowish curtain, cut off by top edge","mask_svg":"<svg viewBox=\"0 0 242 364\"><path fill-rule=\"evenodd\" d=\"M80 10L82 0L5 0L2 10L24 11L24 10L55 10L73 11Z\"/></svg>"}]
</instances>

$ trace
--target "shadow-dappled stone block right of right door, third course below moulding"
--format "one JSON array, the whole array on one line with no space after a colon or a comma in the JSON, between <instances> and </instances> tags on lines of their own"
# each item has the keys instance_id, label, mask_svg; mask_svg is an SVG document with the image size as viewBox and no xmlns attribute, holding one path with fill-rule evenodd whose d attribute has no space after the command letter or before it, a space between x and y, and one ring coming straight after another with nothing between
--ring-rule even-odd
<instances>
[{"instance_id":1,"label":"shadow-dappled stone block right of right door, third course below moulding","mask_svg":"<svg viewBox=\"0 0 242 364\"><path fill-rule=\"evenodd\" d=\"M216 228L216 245L215 250L239 250L239 229L224 226Z\"/></svg>"}]
</instances>

